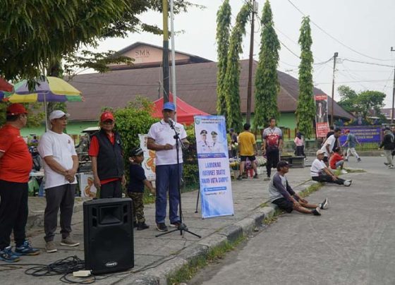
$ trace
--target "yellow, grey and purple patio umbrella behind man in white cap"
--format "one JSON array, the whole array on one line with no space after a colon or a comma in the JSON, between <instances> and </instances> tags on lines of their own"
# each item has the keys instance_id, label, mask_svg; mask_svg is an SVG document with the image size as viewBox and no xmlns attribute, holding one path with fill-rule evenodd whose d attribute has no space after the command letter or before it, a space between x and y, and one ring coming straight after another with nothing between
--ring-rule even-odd
<instances>
[{"instance_id":1,"label":"yellow, grey and purple patio umbrella behind man in white cap","mask_svg":"<svg viewBox=\"0 0 395 285\"><path fill-rule=\"evenodd\" d=\"M34 90L29 90L28 80L21 80L14 86L12 94L4 94L3 101L11 103L44 102L45 126L47 128L47 102L81 102L81 92L65 80L47 76L38 80Z\"/></svg>"}]
</instances>

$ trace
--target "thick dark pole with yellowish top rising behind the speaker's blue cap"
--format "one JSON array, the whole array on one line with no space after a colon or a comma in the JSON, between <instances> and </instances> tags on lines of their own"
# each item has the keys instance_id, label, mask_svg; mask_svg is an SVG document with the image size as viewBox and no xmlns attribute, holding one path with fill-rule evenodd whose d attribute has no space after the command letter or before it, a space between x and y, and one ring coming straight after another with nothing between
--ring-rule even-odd
<instances>
[{"instance_id":1,"label":"thick dark pole with yellowish top rising behind the speaker's blue cap","mask_svg":"<svg viewBox=\"0 0 395 285\"><path fill-rule=\"evenodd\" d=\"M167 0L162 0L163 10L163 102L169 102L169 8Z\"/></svg>"}]
</instances>

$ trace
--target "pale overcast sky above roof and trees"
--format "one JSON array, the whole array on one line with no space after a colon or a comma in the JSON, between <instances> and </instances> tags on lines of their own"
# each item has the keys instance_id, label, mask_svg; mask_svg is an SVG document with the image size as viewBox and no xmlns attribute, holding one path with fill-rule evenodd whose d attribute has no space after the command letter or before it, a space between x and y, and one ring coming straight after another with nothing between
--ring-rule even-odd
<instances>
[{"instance_id":1,"label":"pale overcast sky above roof and trees","mask_svg":"<svg viewBox=\"0 0 395 285\"><path fill-rule=\"evenodd\" d=\"M217 61L215 40L217 11L221 0L190 0L207 8L191 8L188 13L176 15L175 30L184 30L175 38L176 50ZM232 25L245 1L231 0ZM258 16L262 16L265 1L259 3ZM394 77L395 51L395 1L394 0L272 0L270 1L281 45L279 70L298 78L298 45L300 22L304 13L310 16L312 28L312 53L315 63L332 58L339 52L336 66L336 86L348 85L356 91L378 90L387 95L385 103L391 107L392 80ZM294 4L300 11L297 10ZM162 15L145 13L141 20L162 27ZM170 24L169 24L170 25ZM243 40L241 59L248 59L250 42L250 24ZM334 40L332 37L336 40ZM134 42L147 42L162 45L162 37L148 33L131 34L126 39L111 39L99 45L99 51L119 50ZM296 54L292 54L291 51ZM260 23L255 21L254 59L258 59L260 49ZM354 51L353 51L353 50ZM353 63L342 59L351 59L367 63ZM382 59L382 60L379 60ZM383 61L384 59L384 61ZM387 66L377 66L382 64ZM333 61L314 66L315 86L332 94ZM335 99L339 96L335 91Z\"/></svg>"}]
</instances>

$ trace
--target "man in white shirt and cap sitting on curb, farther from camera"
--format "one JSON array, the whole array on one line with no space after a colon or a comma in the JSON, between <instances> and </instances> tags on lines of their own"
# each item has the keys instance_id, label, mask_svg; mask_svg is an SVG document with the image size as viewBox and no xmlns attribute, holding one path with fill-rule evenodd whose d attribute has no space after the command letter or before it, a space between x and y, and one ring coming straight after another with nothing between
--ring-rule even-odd
<instances>
[{"instance_id":1,"label":"man in white shirt and cap sitting on curb, farther from camera","mask_svg":"<svg viewBox=\"0 0 395 285\"><path fill-rule=\"evenodd\" d=\"M339 185L350 186L352 180L344 180L337 177L332 173L332 171L327 168L326 164L322 160L324 158L325 152L323 150L317 150L317 158L311 164L310 174L311 178L317 182L328 182L336 183Z\"/></svg>"}]
</instances>

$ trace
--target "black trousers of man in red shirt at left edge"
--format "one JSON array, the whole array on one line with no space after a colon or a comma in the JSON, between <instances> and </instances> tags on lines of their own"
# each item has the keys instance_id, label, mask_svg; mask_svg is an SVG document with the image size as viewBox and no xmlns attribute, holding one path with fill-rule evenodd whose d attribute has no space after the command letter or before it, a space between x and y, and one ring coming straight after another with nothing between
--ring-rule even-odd
<instances>
[{"instance_id":1,"label":"black trousers of man in red shirt at left edge","mask_svg":"<svg viewBox=\"0 0 395 285\"><path fill-rule=\"evenodd\" d=\"M16 246L23 245L28 214L28 183L0 180L0 250L10 245L11 231Z\"/></svg>"}]
</instances>

